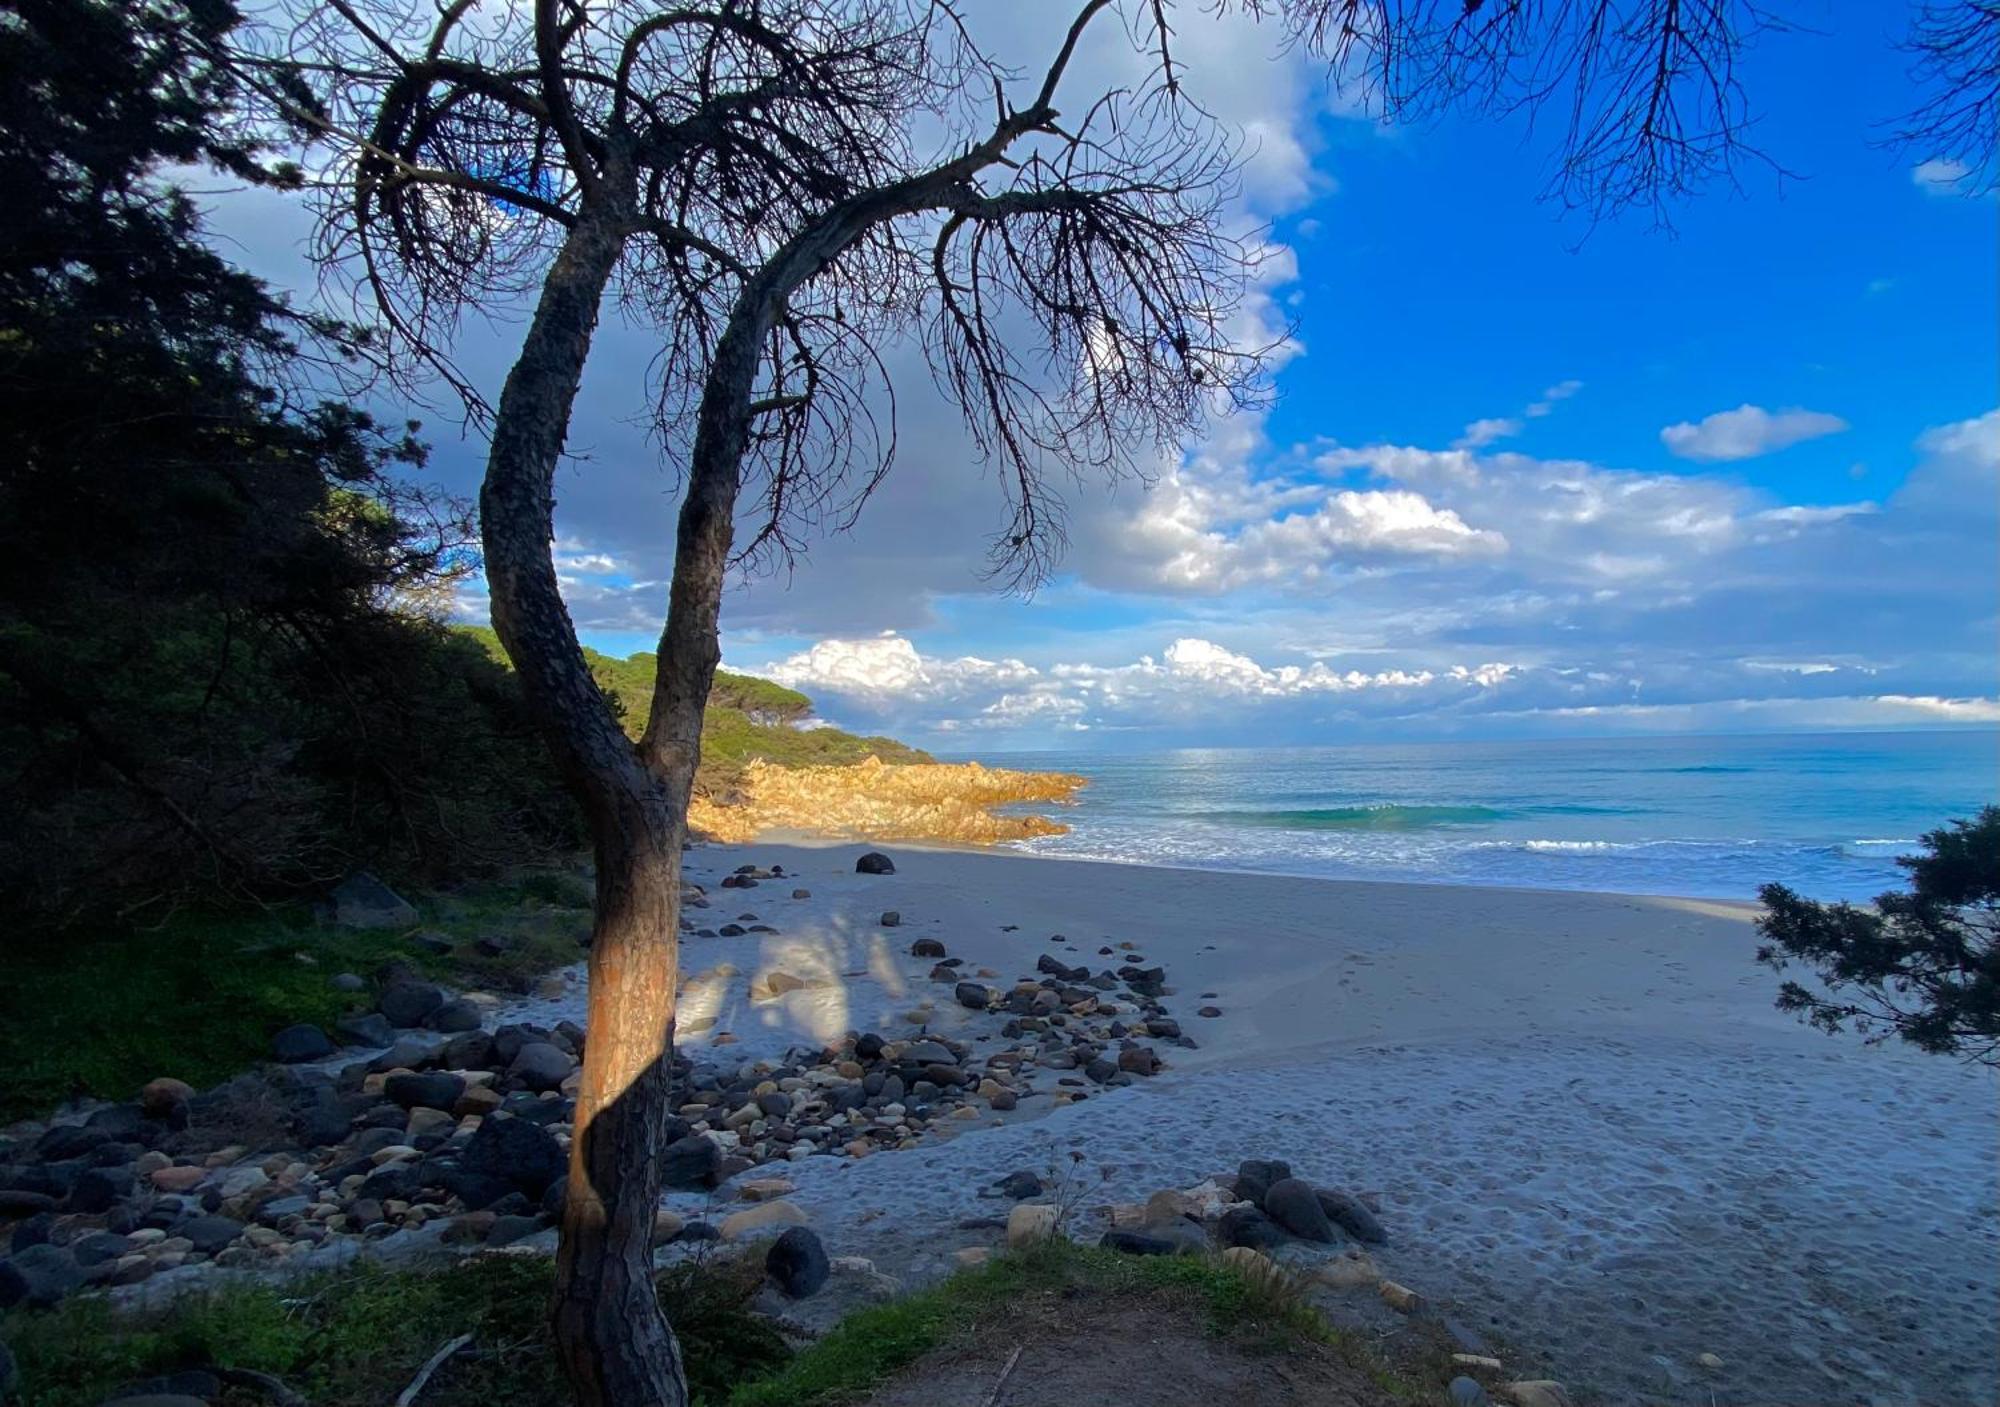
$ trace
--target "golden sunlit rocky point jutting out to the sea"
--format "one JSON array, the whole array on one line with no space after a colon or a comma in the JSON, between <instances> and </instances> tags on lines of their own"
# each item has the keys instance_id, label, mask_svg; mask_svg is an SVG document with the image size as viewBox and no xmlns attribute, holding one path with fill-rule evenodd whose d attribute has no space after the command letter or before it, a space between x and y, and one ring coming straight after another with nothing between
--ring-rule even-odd
<instances>
[{"instance_id":1,"label":"golden sunlit rocky point jutting out to the sea","mask_svg":"<svg viewBox=\"0 0 2000 1407\"><path fill-rule=\"evenodd\" d=\"M1014 801L1068 801L1084 777L1066 771L1006 771L976 761L852 767L772 767L752 761L730 803L696 797L688 823L698 835L748 841L772 831L852 839L940 839L990 845L1068 829L1044 815L994 815Z\"/></svg>"}]
</instances>

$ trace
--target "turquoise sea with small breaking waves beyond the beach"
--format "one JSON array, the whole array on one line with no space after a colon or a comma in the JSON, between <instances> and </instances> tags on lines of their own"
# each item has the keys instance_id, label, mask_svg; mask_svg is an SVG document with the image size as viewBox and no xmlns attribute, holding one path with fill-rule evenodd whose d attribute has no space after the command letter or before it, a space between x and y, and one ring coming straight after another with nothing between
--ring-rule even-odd
<instances>
[{"instance_id":1,"label":"turquoise sea with small breaking waves beyond the beach","mask_svg":"<svg viewBox=\"0 0 2000 1407\"><path fill-rule=\"evenodd\" d=\"M1048 855L1202 869L1748 899L1900 881L1898 853L2000 799L2000 733L1814 733L982 753L1080 771Z\"/></svg>"}]
</instances>

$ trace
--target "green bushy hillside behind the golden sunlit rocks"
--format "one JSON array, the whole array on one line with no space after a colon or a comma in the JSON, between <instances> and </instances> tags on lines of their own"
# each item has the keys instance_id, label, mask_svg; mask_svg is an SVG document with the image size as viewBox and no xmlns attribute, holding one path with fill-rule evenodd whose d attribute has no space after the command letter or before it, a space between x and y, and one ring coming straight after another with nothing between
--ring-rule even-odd
<instances>
[{"instance_id":1,"label":"green bushy hillside behind the golden sunlit rocks","mask_svg":"<svg viewBox=\"0 0 2000 1407\"><path fill-rule=\"evenodd\" d=\"M500 640L486 626L460 626L506 664ZM584 662L598 688L612 700L628 735L646 727L652 698L654 656L650 650L616 660L584 646ZM894 737L860 737L814 721L812 700L770 680L716 672L702 717L702 771L698 789L718 801L732 801L750 761L780 767L840 767L868 757L890 763L932 761L930 753Z\"/></svg>"}]
</instances>

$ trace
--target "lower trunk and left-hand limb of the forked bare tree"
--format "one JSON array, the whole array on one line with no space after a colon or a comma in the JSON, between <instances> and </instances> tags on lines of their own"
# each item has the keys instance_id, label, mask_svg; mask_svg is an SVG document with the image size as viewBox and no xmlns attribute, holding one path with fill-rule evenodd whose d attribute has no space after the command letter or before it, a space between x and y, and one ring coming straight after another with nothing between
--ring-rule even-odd
<instances>
[{"instance_id":1,"label":"lower trunk and left-hand limb of the forked bare tree","mask_svg":"<svg viewBox=\"0 0 2000 1407\"><path fill-rule=\"evenodd\" d=\"M670 1107L686 787L648 771L606 707L550 552L556 464L622 244L614 218L586 212L550 266L494 416L480 534L494 630L596 849L556 1349L582 1407L684 1407L680 1347L654 1295L652 1225Z\"/></svg>"}]
</instances>

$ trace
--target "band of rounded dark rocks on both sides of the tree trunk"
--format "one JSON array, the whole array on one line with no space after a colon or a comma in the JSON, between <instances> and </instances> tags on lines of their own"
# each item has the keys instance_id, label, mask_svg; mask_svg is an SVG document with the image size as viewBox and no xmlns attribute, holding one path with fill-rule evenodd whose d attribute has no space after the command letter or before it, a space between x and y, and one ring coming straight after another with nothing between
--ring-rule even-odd
<instances>
[{"instance_id":1,"label":"band of rounded dark rocks on both sides of the tree trunk","mask_svg":"<svg viewBox=\"0 0 2000 1407\"><path fill-rule=\"evenodd\" d=\"M730 879L780 873L746 865ZM692 885L686 901L708 905ZM1004 985L986 969L966 975L944 941L916 939L912 959L970 1021L958 1033L930 1029L928 1003L906 1013L910 1035L858 1031L734 1065L676 1053L666 1185L712 1189L770 1163L916 1147L1030 1097L1068 1103L1130 1085L1162 1069L1162 1049L1194 1045L1166 1011L1166 971L1130 943L1106 947L1124 961L1098 969L1068 939L1050 943L1062 953ZM804 985L782 971L760 981L762 999ZM376 973L372 989L374 1009L338 1023L342 1037L386 1047L372 1059L328 1069L332 1037L292 1027L272 1069L206 1093L156 1079L132 1103L0 1137L0 1307L182 1265L280 1263L332 1237L446 1223L454 1245L506 1245L548 1227L562 1207L582 1027L482 1029L482 1001L406 967ZM780 1179L738 1191L782 1225ZM1332 1205L1326 1217L1338 1221ZM704 1223L666 1233L716 1235ZM780 1283L822 1273L800 1243L774 1271Z\"/></svg>"}]
</instances>

